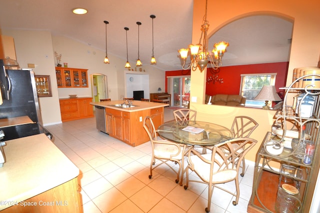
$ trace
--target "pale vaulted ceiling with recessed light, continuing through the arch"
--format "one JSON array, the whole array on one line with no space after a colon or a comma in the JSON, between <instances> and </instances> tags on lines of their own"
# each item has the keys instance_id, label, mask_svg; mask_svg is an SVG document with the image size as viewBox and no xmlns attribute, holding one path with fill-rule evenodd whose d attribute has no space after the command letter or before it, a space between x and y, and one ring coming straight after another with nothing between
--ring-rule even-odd
<instances>
[{"instance_id":1,"label":"pale vaulted ceiling with recessed light, continuing through the arch","mask_svg":"<svg viewBox=\"0 0 320 213\"><path fill-rule=\"evenodd\" d=\"M210 2L208 2L210 3ZM75 15L74 7L88 13ZM128 58L139 55L149 64L152 52L152 19L155 65L162 70L181 69L177 50L191 43L193 0L3 0L0 28L49 30L126 59L125 30L128 27ZM222 27L209 39L209 50L220 40L229 42L223 66L288 61L293 24L275 16L249 16ZM199 26L200 28L200 26Z\"/></svg>"}]
</instances>

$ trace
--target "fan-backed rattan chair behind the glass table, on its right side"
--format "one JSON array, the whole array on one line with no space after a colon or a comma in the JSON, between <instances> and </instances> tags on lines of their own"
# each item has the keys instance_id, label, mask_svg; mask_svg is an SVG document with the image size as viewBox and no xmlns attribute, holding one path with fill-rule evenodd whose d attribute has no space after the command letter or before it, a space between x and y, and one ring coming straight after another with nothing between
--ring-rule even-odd
<instances>
[{"instance_id":1,"label":"fan-backed rattan chair behind the glass table, on its right side","mask_svg":"<svg viewBox=\"0 0 320 213\"><path fill-rule=\"evenodd\" d=\"M259 124L250 117L247 116L236 116L234 117L231 131L234 134L234 138L243 138L243 137L250 137L251 133L255 128L257 128ZM234 144L236 146L236 144ZM245 159L242 159L242 173L240 174L241 177L244 176L245 172Z\"/></svg>"}]
</instances>

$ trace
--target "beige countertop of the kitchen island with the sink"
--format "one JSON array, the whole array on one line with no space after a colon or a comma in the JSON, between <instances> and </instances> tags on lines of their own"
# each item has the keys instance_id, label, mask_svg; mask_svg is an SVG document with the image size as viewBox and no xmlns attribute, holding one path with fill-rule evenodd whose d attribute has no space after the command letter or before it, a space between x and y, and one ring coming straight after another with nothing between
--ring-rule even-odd
<instances>
[{"instance_id":1,"label":"beige countertop of the kitchen island with the sink","mask_svg":"<svg viewBox=\"0 0 320 213\"><path fill-rule=\"evenodd\" d=\"M125 102L125 103L127 103L127 102ZM125 112L135 112L135 111L141 111L141 110L145 110L145 109L153 109L153 108L158 108L158 107L169 106L169 104L164 104L164 103L135 101L135 100L132 101L132 105L135 105L135 107L129 107L129 108L119 108L119 107L109 106L109 105L114 105L114 104L123 104L123 100L91 102L90 104L94 105L94 106L101 106L101 107L116 109L116 110L125 111Z\"/></svg>"}]
</instances>

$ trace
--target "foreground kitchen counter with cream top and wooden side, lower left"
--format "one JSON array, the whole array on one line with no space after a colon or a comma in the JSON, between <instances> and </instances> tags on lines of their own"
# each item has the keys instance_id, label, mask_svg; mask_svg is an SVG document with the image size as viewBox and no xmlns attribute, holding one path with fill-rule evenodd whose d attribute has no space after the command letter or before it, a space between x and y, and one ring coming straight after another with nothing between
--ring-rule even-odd
<instances>
[{"instance_id":1,"label":"foreground kitchen counter with cream top and wooden side, lower left","mask_svg":"<svg viewBox=\"0 0 320 213\"><path fill-rule=\"evenodd\" d=\"M1 213L81 213L79 169L46 137L5 142L0 168Z\"/></svg>"}]
</instances>

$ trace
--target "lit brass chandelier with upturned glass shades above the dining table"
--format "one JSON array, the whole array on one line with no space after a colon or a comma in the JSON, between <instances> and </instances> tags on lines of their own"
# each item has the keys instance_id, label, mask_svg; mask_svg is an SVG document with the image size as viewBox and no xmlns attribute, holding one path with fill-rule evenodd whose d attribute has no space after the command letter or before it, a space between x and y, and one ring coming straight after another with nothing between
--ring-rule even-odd
<instances>
[{"instance_id":1,"label":"lit brass chandelier with upturned glass shades above the dining table","mask_svg":"<svg viewBox=\"0 0 320 213\"><path fill-rule=\"evenodd\" d=\"M181 59L183 60L182 69L184 70L192 68L192 70L194 71L196 67L198 67L202 72L203 69L207 66L208 62L210 62L213 69L217 69L222 64L221 59L229 43L225 41L220 41L218 43L215 43L212 49L213 55L211 55L208 52L207 31L209 29L209 22L206 20L206 11L207 11L207 0L205 0L205 13L204 13L203 21L201 25L201 36L199 39L199 43L189 44L188 48L185 48L185 49L182 48L178 50L178 52L180 53ZM202 36L203 36L203 40L202 40ZM202 40L202 43L201 43L201 40ZM200 48L201 46L202 46L202 51ZM191 63L187 67L185 67L185 62L186 62L186 58L188 56L189 51L191 53L191 56L190 56Z\"/></svg>"}]
</instances>

